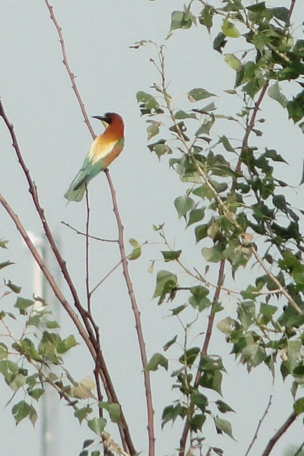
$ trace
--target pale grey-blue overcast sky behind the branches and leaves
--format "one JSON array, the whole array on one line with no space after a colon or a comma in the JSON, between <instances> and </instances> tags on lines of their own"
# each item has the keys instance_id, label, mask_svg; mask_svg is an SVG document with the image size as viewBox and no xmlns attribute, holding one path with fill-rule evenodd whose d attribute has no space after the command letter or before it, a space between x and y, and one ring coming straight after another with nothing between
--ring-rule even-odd
<instances>
[{"instance_id":1,"label":"pale grey-blue overcast sky behind the branches and leaves","mask_svg":"<svg viewBox=\"0 0 304 456\"><path fill-rule=\"evenodd\" d=\"M276 4L275 1L269 1ZM177 214L173 200L182 195L186 187L178 182L174 172L168 169L166 158L159 163L147 149L145 120L140 117L136 92L149 91L158 75L149 61L155 57L153 51L133 50L130 46L142 39L151 39L158 44L164 42L170 25L171 11L182 9L183 2L176 0L54 0L52 2L57 20L62 27L68 60L86 105L88 114L101 115L106 111L119 112L126 125L124 152L111 165L110 174L117 192L119 210L125 227L126 241L133 237L139 242L157 242L152 223L165 222L169 239L183 245L188 242L187 259L197 258L200 249L194 246L191 232L184 232L184 224L177 225ZM279 2L282 5L282 2ZM286 1L289 6L289 1ZM0 97L15 132L24 159L35 180L47 218L56 236L60 239L63 255L69 271L78 286L80 297L85 299L84 283L84 239L63 227L64 220L81 230L85 226L85 203L70 203L65 207L63 194L82 165L91 145L91 136L83 118L66 70L55 28L43 0L0 2ZM298 25L304 19L303 1L297 2L294 20ZM302 37L299 31L299 36ZM231 113L232 98L223 95L231 89L234 72L223 58L212 51L212 42L203 27L190 31L177 31L166 43L167 79L171 80L170 91L183 103L182 95L195 87L204 87L219 95L216 101L221 112ZM225 50L229 51L229 49ZM230 50L231 51L231 50ZM286 84L291 94L295 86ZM298 89L298 88L297 88ZM299 90L298 90L299 91ZM287 112L269 98L263 102L262 116L264 136L258 140L261 147L277 149L287 158L289 167L279 168L281 178L297 186L302 177L303 134L292 122L287 122ZM99 121L92 121L96 133L102 131ZM284 130L281 125L284 126ZM226 136L236 137L227 127ZM32 208L27 184L11 148L3 122L0 122L0 192L19 214L25 228L40 236L42 231ZM301 205L303 194L292 190L289 198L294 205ZM92 208L91 232L103 238L116 237L116 225L112 212L109 189L101 175L90 184ZM6 214L0 211L0 238L9 239L9 251L0 251L0 262L10 259L16 264L3 273L3 277L23 287L22 296L30 298L33 293L32 260L22 241L15 233ZM180 241L179 241L180 240ZM92 242L91 284L96 284L112 266L119 261L116 245ZM161 308L152 301L155 275L149 275L150 259L159 258L159 246L151 244L144 250L142 258L130 264L134 288L142 312L144 333L147 341L148 358L161 351L162 345L180 332L177 321L167 318L168 305ZM159 262L157 268L163 267ZM204 267L204 266L202 266ZM215 277L216 279L216 277ZM238 287L239 288L239 287ZM68 291L64 289L70 299ZM3 303L3 304L2 304ZM9 310L13 300L3 300L0 308ZM182 303L181 303L182 304ZM234 316L234 302L225 298L227 315ZM170 307L170 306L169 306ZM121 271L118 269L103 284L95 295L94 313L101 327L103 352L113 376L118 396L129 421L135 446L143 455L147 454L145 397L142 366L140 363L134 318L125 290ZM62 336L75 332L67 315L61 313ZM201 345L204 330L196 328L192 337L194 345ZM1 332L2 330L0 330ZM80 338L78 338L80 342ZM222 353L228 374L224 375L224 401L238 413L231 414L233 432L237 443L227 436L217 436L212 423L205 429L208 443L221 447L226 456L242 455L248 448L253 432L273 392L273 405L260 432L252 454L259 454L265 447L267 435L280 426L292 410L289 380L284 388L277 375L272 390L270 374L264 365L250 375L245 366L234 365L229 356L229 347L220 333L216 333L210 345L210 354ZM174 351L172 352L174 354ZM178 353L178 352L176 352ZM172 356L170 353L169 356ZM172 356L174 357L174 355ZM76 380L92 375L92 363L86 349L81 346L66 356L66 367ZM155 427L158 455L169 455L179 444L181 432L177 420L173 429L167 424L160 430L162 409L177 398L170 391L170 381L165 372L152 372L152 387L155 406ZM170 379L169 379L170 380ZM245 385L246 384L246 388ZM241 388L242 385L242 388ZM10 390L0 378L0 442L3 455L40 455L40 421L36 430L25 420L16 429L11 415L11 405L3 408L10 398ZM3 393L2 393L3 392ZM208 392L208 397L218 399ZM22 399L22 394L18 396ZM80 428L71 410L61 401L58 408L58 453L77 455L86 438L94 438L85 424ZM280 455L288 444L300 444L303 440L302 418L281 439L273 452ZM246 426L245 426L246 423ZM112 432L112 428L110 428ZM115 436L115 431L113 431Z\"/></svg>"}]
</instances>

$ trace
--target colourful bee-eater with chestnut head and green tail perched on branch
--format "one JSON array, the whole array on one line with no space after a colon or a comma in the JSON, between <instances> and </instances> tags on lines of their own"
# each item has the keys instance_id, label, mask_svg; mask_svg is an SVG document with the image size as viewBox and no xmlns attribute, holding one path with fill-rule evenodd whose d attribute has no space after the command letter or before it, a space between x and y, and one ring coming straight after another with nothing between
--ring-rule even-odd
<instances>
[{"instance_id":1,"label":"colourful bee-eater with chestnut head and green tail perched on branch","mask_svg":"<svg viewBox=\"0 0 304 456\"><path fill-rule=\"evenodd\" d=\"M106 112L103 116L92 117L101 120L105 131L95 138L82 168L65 192L68 203L83 199L88 183L112 163L124 146L124 123L119 114Z\"/></svg>"}]
</instances>

